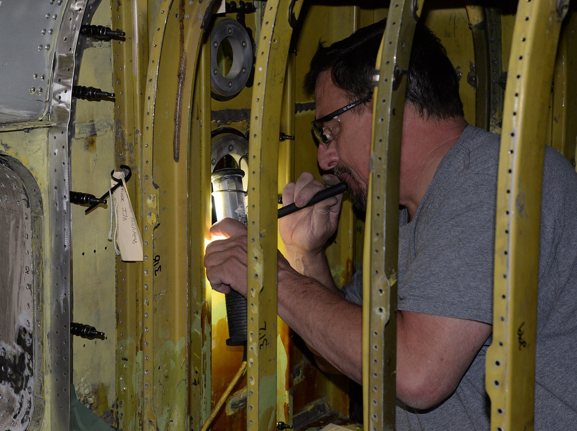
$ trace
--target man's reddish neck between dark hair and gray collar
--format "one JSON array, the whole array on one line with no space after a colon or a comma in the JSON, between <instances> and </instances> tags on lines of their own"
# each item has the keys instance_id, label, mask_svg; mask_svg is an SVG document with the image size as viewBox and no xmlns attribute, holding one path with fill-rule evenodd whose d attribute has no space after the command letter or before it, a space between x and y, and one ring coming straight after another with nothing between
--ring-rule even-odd
<instances>
[{"instance_id":1,"label":"man's reddish neck between dark hair and gray collar","mask_svg":"<svg viewBox=\"0 0 577 431\"><path fill-rule=\"evenodd\" d=\"M429 120L414 109L405 109L404 116L399 198L413 220L437 167L459 140L467 122L463 118Z\"/></svg>"}]
</instances>

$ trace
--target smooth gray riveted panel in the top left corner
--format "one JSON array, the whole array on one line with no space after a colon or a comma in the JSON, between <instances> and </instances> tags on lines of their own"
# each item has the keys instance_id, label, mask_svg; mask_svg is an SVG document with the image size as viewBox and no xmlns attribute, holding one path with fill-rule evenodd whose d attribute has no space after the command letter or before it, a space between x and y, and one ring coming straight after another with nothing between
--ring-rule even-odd
<instances>
[{"instance_id":1,"label":"smooth gray riveted panel in the top left corner","mask_svg":"<svg viewBox=\"0 0 577 431\"><path fill-rule=\"evenodd\" d=\"M0 123L46 114L66 1L0 1Z\"/></svg>"}]
</instances>

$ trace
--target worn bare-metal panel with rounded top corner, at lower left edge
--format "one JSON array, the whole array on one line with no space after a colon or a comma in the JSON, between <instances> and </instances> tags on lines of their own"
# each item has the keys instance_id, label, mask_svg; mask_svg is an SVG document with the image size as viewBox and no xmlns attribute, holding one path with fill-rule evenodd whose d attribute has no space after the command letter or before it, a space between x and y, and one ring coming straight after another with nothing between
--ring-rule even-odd
<instances>
[{"instance_id":1,"label":"worn bare-metal panel with rounded top corner, at lower left edge","mask_svg":"<svg viewBox=\"0 0 577 431\"><path fill-rule=\"evenodd\" d=\"M34 409L32 221L24 184L0 164L0 429L25 431Z\"/></svg>"}]
</instances>

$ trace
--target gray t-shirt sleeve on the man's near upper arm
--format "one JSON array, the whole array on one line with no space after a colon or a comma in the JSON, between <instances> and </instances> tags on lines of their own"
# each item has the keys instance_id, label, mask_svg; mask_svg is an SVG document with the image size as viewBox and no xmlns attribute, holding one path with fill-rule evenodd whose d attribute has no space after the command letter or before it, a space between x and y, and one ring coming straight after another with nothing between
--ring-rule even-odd
<instances>
[{"instance_id":1,"label":"gray t-shirt sleeve on the man's near upper arm","mask_svg":"<svg viewBox=\"0 0 577 431\"><path fill-rule=\"evenodd\" d=\"M492 323L495 180L460 176L419 214L399 310Z\"/></svg>"}]
</instances>

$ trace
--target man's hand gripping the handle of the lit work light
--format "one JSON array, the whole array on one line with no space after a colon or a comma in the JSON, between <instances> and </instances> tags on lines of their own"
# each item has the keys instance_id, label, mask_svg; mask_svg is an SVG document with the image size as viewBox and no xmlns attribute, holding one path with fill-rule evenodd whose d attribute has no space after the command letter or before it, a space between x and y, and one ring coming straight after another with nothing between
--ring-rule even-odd
<instances>
[{"instance_id":1,"label":"man's hand gripping the handle of the lit work light","mask_svg":"<svg viewBox=\"0 0 577 431\"><path fill-rule=\"evenodd\" d=\"M208 244L204 254L207 278L213 289L228 293L236 290L246 298L246 226L233 218L212 225L211 237L223 236Z\"/></svg>"}]
</instances>

